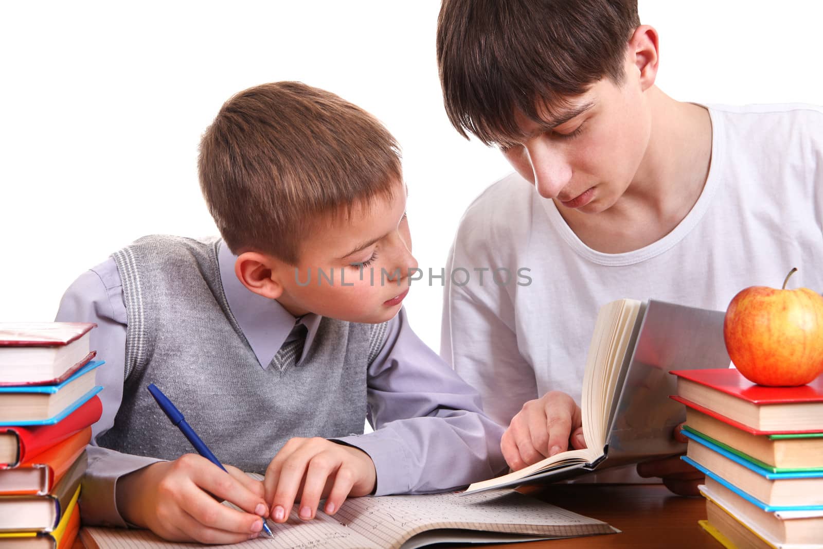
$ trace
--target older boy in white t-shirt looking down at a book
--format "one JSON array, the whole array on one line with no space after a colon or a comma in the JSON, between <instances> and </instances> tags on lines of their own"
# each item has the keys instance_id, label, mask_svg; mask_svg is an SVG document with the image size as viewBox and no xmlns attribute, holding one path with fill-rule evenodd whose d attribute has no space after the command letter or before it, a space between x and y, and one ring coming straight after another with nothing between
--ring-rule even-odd
<instances>
[{"instance_id":1,"label":"older boy in white t-shirt looking down at a book","mask_svg":"<svg viewBox=\"0 0 823 549\"><path fill-rule=\"evenodd\" d=\"M516 174L469 207L453 268L530 268L530 286L446 290L441 354L509 425L512 468L585 444L579 401L600 305L725 309L751 285L823 288L823 114L704 107L654 86L658 34L634 0L446 0L437 55L449 119ZM702 476L639 466L673 491Z\"/></svg>"}]
</instances>

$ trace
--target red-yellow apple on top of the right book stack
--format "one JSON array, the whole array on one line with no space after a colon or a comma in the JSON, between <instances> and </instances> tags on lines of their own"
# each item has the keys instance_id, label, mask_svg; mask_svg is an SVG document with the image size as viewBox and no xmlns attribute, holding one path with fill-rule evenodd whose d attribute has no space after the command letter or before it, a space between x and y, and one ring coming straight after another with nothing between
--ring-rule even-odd
<instances>
[{"instance_id":1,"label":"red-yellow apple on top of the right book stack","mask_svg":"<svg viewBox=\"0 0 823 549\"><path fill-rule=\"evenodd\" d=\"M823 297L808 288L751 286L726 309L723 339L737 370L760 385L796 386L823 372Z\"/></svg>"}]
</instances>

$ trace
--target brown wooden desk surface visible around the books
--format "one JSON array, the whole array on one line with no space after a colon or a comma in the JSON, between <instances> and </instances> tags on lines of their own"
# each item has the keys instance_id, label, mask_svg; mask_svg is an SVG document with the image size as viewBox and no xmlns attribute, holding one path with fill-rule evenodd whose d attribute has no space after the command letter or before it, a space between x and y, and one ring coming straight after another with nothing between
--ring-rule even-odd
<instances>
[{"instance_id":1,"label":"brown wooden desk surface visible around the books","mask_svg":"<svg viewBox=\"0 0 823 549\"><path fill-rule=\"evenodd\" d=\"M622 530L603 536L574 537L544 542L483 545L484 549L722 549L697 521L706 518L703 498L673 495L663 485L556 485L533 494L575 513L600 519ZM204 546L206 547L206 546ZM444 547L444 546L440 546ZM477 545L449 545L477 549ZM72 549L84 549L80 537Z\"/></svg>"}]
</instances>

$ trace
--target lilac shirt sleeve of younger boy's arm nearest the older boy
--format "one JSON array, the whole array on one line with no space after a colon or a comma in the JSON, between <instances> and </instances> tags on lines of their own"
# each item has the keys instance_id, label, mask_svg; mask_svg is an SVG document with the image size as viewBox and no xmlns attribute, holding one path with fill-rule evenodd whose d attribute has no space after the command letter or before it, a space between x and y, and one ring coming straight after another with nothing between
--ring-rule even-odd
<instances>
[{"instance_id":1,"label":"lilac shirt sleeve of younger boy's arm nearest the older boy","mask_svg":"<svg viewBox=\"0 0 823 549\"><path fill-rule=\"evenodd\" d=\"M412 332L404 309L389 321L369 367L368 401L374 432L337 440L370 455L375 495L445 491L505 468L503 428L481 412L477 392Z\"/></svg>"}]
</instances>

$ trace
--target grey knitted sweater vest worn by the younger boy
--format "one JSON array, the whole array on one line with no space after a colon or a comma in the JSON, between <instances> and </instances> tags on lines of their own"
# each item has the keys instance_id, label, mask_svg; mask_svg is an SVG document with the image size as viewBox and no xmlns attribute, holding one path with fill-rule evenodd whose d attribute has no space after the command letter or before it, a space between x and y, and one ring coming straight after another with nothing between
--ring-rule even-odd
<instances>
[{"instance_id":1,"label":"grey knitted sweater vest worn by the younger boy","mask_svg":"<svg viewBox=\"0 0 823 549\"><path fill-rule=\"evenodd\" d=\"M219 241L146 236L114 254L123 281L123 402L98 444L174 459L191 444L146 390L156 384L223 463L265 472L291 437L360 434L366 372L386 324L323 318L300 365L303 340L263 369L231 314L217 265Z\"/></svg>"}]
</instances>

